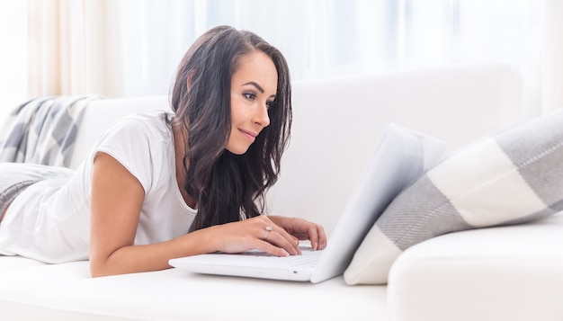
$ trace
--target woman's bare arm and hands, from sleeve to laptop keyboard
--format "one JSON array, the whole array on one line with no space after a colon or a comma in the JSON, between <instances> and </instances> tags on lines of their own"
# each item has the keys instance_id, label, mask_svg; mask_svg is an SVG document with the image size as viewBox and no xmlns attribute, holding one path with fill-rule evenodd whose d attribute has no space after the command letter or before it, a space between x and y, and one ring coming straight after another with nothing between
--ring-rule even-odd
<instances>
[{"instance_id":1,"label":"woman's bare arm and hands, from sleeve to laptop keyboard","mask_svg":"<svg viewBox=\"0 0 563 321\"><path fill-rule=\"evenodd\" d=\"M320 233L313 233L317 225L305 220L260 216L203 228L167 242L133 245L144 201L141 184L115 158L102 152L95 156L92 181L90 270L94 277L163 270L170 267L172 258L217 251L299 254L298 238L313 241L324 237L322 227ZM273 230L266 237L268 226ZM309 230L313 234L304 237Z\"/></svg>"}]
</instances>

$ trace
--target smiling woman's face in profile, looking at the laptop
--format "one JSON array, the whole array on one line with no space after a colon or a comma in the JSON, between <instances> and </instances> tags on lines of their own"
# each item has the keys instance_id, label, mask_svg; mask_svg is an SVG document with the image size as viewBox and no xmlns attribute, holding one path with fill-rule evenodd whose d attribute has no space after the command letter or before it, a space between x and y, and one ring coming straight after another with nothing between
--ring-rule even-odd
<instances>
[{"instance_id":1,"label":"smiling woman's face in profile, looking at the laptop","mask_svg":"<svg viewBox=\"0 0 563 321\"><path fill-rule=\"evenodd\" d=\"M253 51L239 58L231 78L231 132L227 149L242 155L264 127L270 124L268 108L275 99L278 73L272 58Z\"/></svg>"}]
</instances>

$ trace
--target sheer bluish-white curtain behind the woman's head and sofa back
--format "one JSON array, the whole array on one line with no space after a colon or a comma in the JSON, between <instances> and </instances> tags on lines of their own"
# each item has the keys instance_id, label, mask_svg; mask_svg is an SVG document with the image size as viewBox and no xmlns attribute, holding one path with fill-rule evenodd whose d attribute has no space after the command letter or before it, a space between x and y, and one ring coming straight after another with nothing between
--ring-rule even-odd
<instances>
[{"instance_id":1,"label":"sheer bluish-white curtain behind the woman's head and sofa back","mask_svg":"<svg viewBox=\"0 0 563 321\"><path fill-rule=\"evenodd\" d=\"M174 67L192 40L215 25L230 24L255 31L281 49L294 80L500 61L523 76L525 114L540 113L544 101L542 64L545 43L550 41L545 41L547 11L539 0L121 0L120 4L122 44L129 42L124 50L130 52L123 61L122 75L130 79L124 82L124 95L165 94ZM561 23L560 8L550 14Z\"/></svg>"}]
</instances>

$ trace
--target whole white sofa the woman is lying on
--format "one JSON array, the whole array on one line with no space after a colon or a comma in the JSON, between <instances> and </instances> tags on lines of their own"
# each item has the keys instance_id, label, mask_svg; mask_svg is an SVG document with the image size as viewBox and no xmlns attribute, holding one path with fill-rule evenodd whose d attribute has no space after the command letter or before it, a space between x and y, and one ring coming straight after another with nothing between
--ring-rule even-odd
<instances>
[{"instance_id":1,"label":"whole white sofa the woman is lying on","mask_svg":"<svg viewBox=\"0 0 563 321\"><path fill-rule=\"evenodd\" d=\"M451 152L523 120L522 81L498 64L299 81L293 89L290 148L270 209L317 221L329 237L389 122L442 138ZM71 167L113 121L167 105L164 96L89 103ZM562 228L556 214L437 236L401 254L388 285L177 269L92 279L87 262L0 256L0 320L561 320Z\"/></svg>"}]
</instances>

